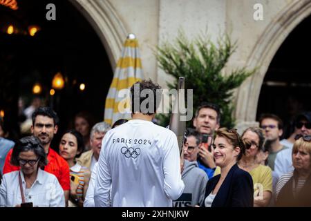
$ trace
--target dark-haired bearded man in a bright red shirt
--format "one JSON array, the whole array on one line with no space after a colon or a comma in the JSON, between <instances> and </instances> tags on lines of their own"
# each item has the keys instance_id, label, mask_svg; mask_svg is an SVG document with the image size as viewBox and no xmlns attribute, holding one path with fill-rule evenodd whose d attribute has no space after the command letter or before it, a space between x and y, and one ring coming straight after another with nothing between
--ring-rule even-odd
<instances>
[{"instance_id":1,"label":"dark-haired bearded man in a bright red shirt","mask_svg":"<svg viewBox=\"0 0 311 221\"><path fill-rule=\"evenodd\" d=\"M32 113L31 133L39 138L42 146L44 146L44 151L47 154L48 164L42 169L57 177L59 184L64 189L67 205L70 191L69 166L62 157L50 148L50 143L52 142L54 135L57 133L58 122L59 118L51 108L39 107L34 113ZM11 155L12 150L10 150L6 156L3 174L18 171L20 169L19 166L12 166L12 164L10 164Z\"/></svg>"}]
</instances>

